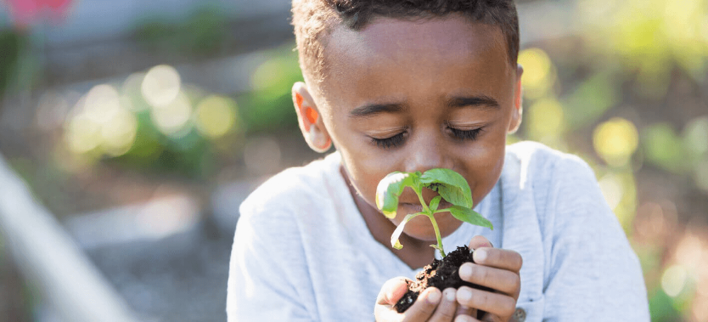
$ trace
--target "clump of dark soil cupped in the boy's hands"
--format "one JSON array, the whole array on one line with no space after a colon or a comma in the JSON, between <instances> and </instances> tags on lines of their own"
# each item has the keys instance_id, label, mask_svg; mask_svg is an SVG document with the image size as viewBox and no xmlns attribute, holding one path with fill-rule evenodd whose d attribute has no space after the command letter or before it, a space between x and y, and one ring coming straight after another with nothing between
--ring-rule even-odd
<instances>
[{"instance_id":1,"label":"clump of dark soil cupped in the boy's hands","mask_svg":"<svg viewBox=\"0 0 708 322\"><path fill-rule=\"evenodd\" d=\"M448 287L457 289L461 286L468 286L475 289L492 291L489 287L465 282L459 278L457 270L459 270L459 267L463 263L467 262L474 263L474 260L472 260L472 252L469 251L467 246L457 246L455 251L448 253L442 260L434 259L433 263L426 265L421 272L418 272L416 281L408 285L408 292L401 297L394 308L399 313L403 313L413 305L416 299L418 299L418 295L428 287L437 287L442 291Z\"/></svg>"}]
</instances>

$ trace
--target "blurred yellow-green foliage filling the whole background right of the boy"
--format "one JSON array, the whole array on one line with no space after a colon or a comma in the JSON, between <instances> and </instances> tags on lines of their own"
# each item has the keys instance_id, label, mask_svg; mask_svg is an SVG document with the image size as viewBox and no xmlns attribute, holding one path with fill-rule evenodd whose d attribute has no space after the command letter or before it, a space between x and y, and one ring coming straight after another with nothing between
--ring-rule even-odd
<instances>
[{"instance_id":1,"label":"blurred yellow-green foliage filling the whole background right of the boy","mask_svg":"<svg viewBox=\"0 0 708 322\"><path fill-rule=\"evenodd\" d=\"M701 101L708 74L708 2L576 4L577 37L542 42L519 54L528 106L520 135L581 154L595 169L641 259L652 321L708 321L708 294L702 291L708 270L697 265L708 258L708 238L686 231L677 241L685 223L673 202L673 210L646 200L639 207L637 189L648 165L660 178L678 181L672 183L681 191L702 191L699 199L708 195L708 102ZM686 100L691 96L697 100ZM673 112L682 109L694 113ZM646 115L653 120L646 122ZM694 183L695 190L684 182ZM697 217L703 222L704 215Z\"/></svg>"}]
</instances>

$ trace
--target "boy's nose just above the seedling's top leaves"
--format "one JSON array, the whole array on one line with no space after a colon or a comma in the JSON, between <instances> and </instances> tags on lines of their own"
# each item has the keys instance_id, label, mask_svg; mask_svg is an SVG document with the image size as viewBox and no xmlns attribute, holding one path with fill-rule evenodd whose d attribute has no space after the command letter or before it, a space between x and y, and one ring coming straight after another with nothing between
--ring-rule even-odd
<instances>
[{"instance_id":1,"label":"boy's nose just above the seedling's top leaves","mask_svg":"<svg viewBox=\"0 0 708 322\"><path fill-rule=\"evenodd\" d=\"M436 133L418 133L408 146L405 168L407 172L425 172L432 168L452 168L452 157L445 142Z\"/></svg>"}]
</instances>

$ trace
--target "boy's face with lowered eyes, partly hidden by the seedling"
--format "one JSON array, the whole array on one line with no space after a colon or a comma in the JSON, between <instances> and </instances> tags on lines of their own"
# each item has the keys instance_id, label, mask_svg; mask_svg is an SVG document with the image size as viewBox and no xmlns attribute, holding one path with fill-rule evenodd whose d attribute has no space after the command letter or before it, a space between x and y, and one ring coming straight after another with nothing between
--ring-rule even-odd
<instances>
[{"instance_id":1,"label":"boy's face with lowered eyes, partly hidden by the seedling","mask_svg":"<svg viewBox=\"0 0 708 322\"><path fill-rule=\"evenodd\" d=\"M377 184L392 171L451 168L467 179L475 204L489 193L501 174L506 135L520 119L520 70L510 66L505 43L498 28L456 15L377 18L360 31L333 30L327 75L313 99L368 205L374 207ZM435 195L427 190L424 199ZM421 210L410 188L400 201L394 224ZM435 217L443 236L461 224L449 213ZM426 217L404 232L435 240Z\"/></svg>"}]
</instances>

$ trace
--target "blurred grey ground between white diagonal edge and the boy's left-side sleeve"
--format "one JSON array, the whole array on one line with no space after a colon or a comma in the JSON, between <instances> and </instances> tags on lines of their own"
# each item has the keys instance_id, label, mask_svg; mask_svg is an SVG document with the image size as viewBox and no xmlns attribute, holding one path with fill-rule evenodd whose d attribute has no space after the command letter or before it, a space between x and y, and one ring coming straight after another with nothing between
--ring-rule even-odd
<instances>
[{"instance_id":1,"label":"blurred grey ground between white diagonal edge and the boy's left-side sleeve","mask_svg":"<svg viewBox=\"0 0 708 322\"><path fill-rule=\"evenodd\" d=\"M88 251L145 321L226 321L232 236L210 222L157 241Z\"/></svg>"}]
</instances>

